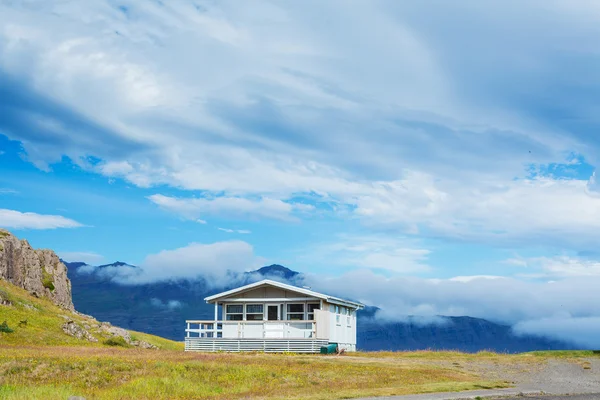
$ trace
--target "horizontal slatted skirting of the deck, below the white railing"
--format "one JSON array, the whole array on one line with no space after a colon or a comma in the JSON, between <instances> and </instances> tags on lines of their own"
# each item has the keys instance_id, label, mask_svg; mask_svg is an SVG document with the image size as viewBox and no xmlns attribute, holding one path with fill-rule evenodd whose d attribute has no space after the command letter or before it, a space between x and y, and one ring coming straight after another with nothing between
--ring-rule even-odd
<instances>
[{"instance_id":1,"label":"horizontal slatted skirting of the deck, below the white railing","mask_svg":"<svg viewBox=\"0 0 600 400\"><path fill-rule=\"evenodd\" d=\"M322 339L185 338L185 351L263 351L266 353L318 353L329 342Z\"/></svg>"}]
</instances>

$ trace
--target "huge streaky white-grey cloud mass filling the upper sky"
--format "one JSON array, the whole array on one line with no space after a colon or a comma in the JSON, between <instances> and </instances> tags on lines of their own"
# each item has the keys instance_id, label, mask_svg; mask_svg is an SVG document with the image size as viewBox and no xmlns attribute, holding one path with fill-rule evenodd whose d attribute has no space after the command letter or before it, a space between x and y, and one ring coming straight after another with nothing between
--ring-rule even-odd
<instances>
[{"instance_id":1,"label":"huge streaky white-grey cloud mass filling the upper sky","mask_svg":"<svg viewBox=\"0 0 600 400\"><path fill-rule=\"evenodd\" d=\"M595 178L524 179L600 159L589 4L1 7L0 69L31 101L0 128L40 167L92 155L109 178L201 191L151 196L193 220L292 220L304 196L374 229L598 245Z\"/></svg>"}]
</instances>

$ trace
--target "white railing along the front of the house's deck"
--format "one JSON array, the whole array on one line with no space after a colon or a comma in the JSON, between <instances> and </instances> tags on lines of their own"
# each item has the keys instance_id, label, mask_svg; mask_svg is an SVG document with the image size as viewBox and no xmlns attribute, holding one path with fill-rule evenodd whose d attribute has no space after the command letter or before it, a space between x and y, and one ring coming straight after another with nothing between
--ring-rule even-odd
<instances>
[{"instance_id":1,"label":"white railing along the front of the house's deck","mask_svg":"<svg viewBox=\"0 0 600 400\"><path fill-rule=\"evenodd\" d=\"M308 321L186 321L186 338L314 339L317 323Z\"/></svg>"}]
</instances>

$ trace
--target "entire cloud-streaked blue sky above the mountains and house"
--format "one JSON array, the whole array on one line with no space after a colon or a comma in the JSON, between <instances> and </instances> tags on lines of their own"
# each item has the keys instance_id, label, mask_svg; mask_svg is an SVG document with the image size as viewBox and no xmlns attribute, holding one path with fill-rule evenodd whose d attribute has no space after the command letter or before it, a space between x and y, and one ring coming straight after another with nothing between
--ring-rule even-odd
<instances>
[{"instance_id":1,"label":"entire cloud-streaked blue sky above the mountains and house","mask_svg":"<svg viewBox=\"0 0 600 400\"><path fill-rule=\"evenodd\" d=\"M147 279L280 263L381 305L407 279L569 296L600 281L599 20L586 1L0 2L0 226ZM575 306L528 329L559 317L600 329Z\"/></svg>"}]
</instances>

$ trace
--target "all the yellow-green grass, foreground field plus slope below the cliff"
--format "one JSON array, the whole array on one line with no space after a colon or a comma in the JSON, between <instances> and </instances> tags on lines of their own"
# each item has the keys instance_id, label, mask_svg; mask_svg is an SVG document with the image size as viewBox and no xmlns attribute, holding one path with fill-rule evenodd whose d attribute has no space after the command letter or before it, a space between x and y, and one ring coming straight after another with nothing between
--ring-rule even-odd
<instances>
[{"instance_id":1,"label":"all the yellow-green grass, foreground field plus slope below the cliff","mask_svg":"<svg viewBox=\"0 0 600 400\"><path fill-rule=\"evenodd\" d=\"M490 367L519 373L552 357L583 359L592 352L354 353L343 356L184 353L182 343L139 332L134 339L159 347L144 350L66 335L67 319L97 321L61 310L45 299L0 281L0 399L312 399L506 387ZM19 325L27 320L27 324ZM597 355L596 355L597 356ZM582 368L587 368L584 361ZM589 364L589 363L588 363ZM591 366L589 366L591 368ZM483 373L482 371L488 371Z\"/></svg>"}]
</instances>

